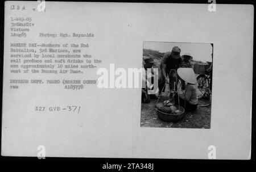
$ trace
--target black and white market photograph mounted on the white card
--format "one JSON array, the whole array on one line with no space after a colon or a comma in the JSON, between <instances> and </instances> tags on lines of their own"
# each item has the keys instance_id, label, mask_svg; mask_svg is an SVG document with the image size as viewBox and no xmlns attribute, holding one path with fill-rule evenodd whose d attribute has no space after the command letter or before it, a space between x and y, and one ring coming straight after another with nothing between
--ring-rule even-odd
<instances>
[{"instance_id":1,"label":"black and white market photograph mounted on the white card","mask_svg":"<svg viewBox=\"0 0 256 172\"><path fill-rule=\"evenodd\" d=\"M145 41L141 127L210 128L213 44ZM149 72L148 72L149 71ZM158 78L158 89L152 90Z\"/></svg>"}]
</instances>

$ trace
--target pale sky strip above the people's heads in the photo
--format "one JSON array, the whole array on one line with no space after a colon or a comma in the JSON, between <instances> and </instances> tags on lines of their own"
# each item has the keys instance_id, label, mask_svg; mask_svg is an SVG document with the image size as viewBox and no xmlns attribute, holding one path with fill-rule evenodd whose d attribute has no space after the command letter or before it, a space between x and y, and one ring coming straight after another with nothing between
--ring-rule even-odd
<instances>
[{"instance_id":1,"label":"pale sky strip above the people's heads in the photo","mask_svg":"<svg viewBox=\"0 0 256 172\"><path fill-rule=\"evenodd\" d=\"M144 42L144 49L152 49L162 53L172 51L172 47L177 46L181 49L180 55L190 53L193 60L212 61L212 46L208 43L168 43L168 42ZM213 45L214 46L214 45ZM214 57L213 57L214 58Z\"/></svg>"}]
</instances>

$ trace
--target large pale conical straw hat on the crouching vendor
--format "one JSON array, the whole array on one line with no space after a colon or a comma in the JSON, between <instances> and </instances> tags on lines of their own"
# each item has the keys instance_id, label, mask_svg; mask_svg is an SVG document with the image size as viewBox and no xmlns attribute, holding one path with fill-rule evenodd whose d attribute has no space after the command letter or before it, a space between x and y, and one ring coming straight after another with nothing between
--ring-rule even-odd
<instances>
[{"instance_id":1,"label":"large pale conical straw hat on the crouching vendor","mask_svg":"<svg viewBox=\"0 0 256 172\"><path fill-rule=\"evenodd\" d=\"M195 84L197 82L196 75L192 68L179 68L179 69L177 69L177 74L185 82L192 83L192 84Z\"/></svg>"}]
</instances>

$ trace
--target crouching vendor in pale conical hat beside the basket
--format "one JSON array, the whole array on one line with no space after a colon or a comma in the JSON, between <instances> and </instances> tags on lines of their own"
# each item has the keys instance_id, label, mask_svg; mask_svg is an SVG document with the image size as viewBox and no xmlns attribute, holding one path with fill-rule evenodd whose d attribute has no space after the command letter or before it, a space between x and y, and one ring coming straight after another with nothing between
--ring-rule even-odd
<instances>
[{"instance_id":1,"label":"crouching vendor in pale conical hat beside the basket","mask_svg":"<svg viewBox=\"0 0 256 172\"><path fill-rule=\"evenodd\" d=\"M179 97L177 94L175 95L175 104L180 103L180 106L184 107L185 111L193 112L198 104L196 75L192 68L179 68L177 69L177 74L184 82L187 82L187 85L183 94L180 94Z\"/></svg>"}]
</instances>

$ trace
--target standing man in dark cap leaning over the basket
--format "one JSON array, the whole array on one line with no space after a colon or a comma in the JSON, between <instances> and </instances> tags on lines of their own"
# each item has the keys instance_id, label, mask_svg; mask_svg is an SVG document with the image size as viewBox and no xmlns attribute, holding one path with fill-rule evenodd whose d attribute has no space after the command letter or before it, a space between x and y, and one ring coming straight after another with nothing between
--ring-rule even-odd
<instances>
[{"instance_id":1,"label":"standing man in dark cap leaning over the basket","mask_svg":"<svg viewBox=\"0 0 256 172\"><path fill-rule=\"evenodd\" d=\"M182 58L180 57L180 48L173 47L172 52L164 53L163 59L160 63L161 77L159 82L159 90L162 91L166 82L170 83L170 93L175 93L174 82L176 81L177 68L180 68ZM174 69L171 71L171 69ZM171 72L170 72L171 71ZM169 75L170 74L170 75ZM177 89L177 83L176 87Z\"/></svg>"}]
</instances>

